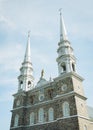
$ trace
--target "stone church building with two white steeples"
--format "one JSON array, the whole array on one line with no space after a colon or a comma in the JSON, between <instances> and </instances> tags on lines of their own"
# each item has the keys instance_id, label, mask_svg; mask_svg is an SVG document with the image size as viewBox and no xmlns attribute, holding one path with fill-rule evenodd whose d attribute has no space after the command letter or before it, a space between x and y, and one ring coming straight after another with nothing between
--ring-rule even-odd
<instances>
[{"instance_id":1,"label":"stone church building with two white steeples","mask_svg":"<svg viewBox=\"0 0 93 130\"><path fill-rule=\"evenodd\" d=\"M18 91L13 95L10 130L93 130L93 121L87 112L83 78L76 71L76 57L61 12L57 53L58 76L47 81L42 70L39 81L34 85L28 34L18 76Z\"/></svg>"}]
</instances>

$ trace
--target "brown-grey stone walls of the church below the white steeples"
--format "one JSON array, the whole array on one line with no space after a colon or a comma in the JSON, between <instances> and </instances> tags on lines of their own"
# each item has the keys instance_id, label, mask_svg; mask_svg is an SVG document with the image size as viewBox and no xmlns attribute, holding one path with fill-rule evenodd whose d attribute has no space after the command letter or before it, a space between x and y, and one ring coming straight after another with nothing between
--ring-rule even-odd
<instances>
[{"instance_id":1,"label":"brown-grey stone walls of the church below the white steeples","mask_svg":"<svg viewBox=\"0 0 93 130\"><path fill-rule=\"evenodd\" d=\"M70 75L70 77L69 77ZM66 77L65 77L66 76ZM64 78L65 77L65 78ZM84 124L89 127L86 110L86 98L75 90L75 73L57 77L48 84L28 92L20 91L14 95L11 129L13 130L82 130ZM77 79L76 79L77 80ZM79 81L80 82L80 81ZM66 88L62 88L67 85ZM82 83L79 87L82 88ZM77 83L77 89L78 83ZM82 90L82 89L81 89ZM39 93L43 91L44 99L39 100ZM20 102L17 104L17 102ZM63 104L69 103L70 115L64 117ZM44 121L39 123L39 109L44 109ZM48 110L53 108L54 120L49 121ZM34 112L34 124L30 125L30 114ZM14 127L14 117L19 115L18 126ZM81 118L79 117L81 116ZM84 118L82 118L84 117ZM80 122L80 123L79 123ZM92 129L89 129L92 130Z\"/></svg>"}]
</instances>

